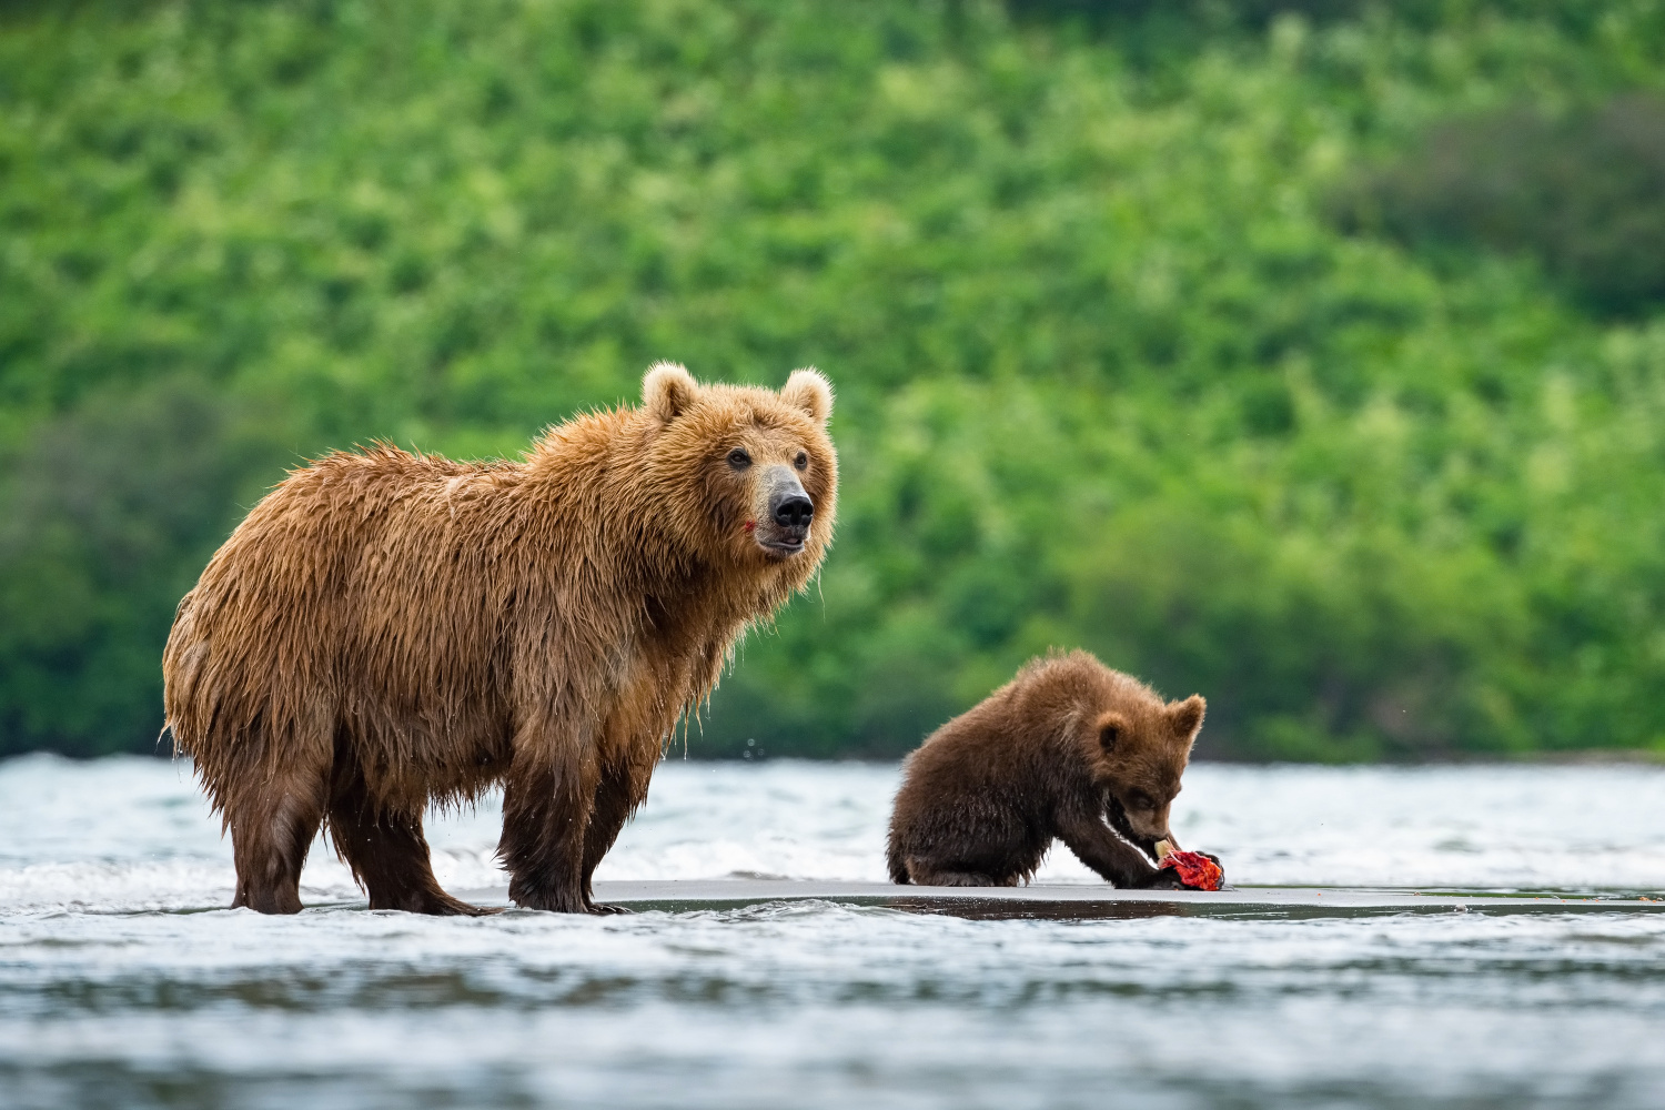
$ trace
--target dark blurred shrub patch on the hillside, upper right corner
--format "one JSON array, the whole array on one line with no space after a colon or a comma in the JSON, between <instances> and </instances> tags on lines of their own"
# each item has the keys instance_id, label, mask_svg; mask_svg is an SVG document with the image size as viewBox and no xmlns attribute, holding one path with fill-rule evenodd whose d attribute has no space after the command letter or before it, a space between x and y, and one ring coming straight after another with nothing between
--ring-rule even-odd
<instances>
[{"instance_id":1,"label":"dark blurred shrub patch on the hillside, upper right corner","mask_svg":"<svg viewBox=\"0 0 1665 1110\"><path fill-rule=\"evenodd\" d=\"M1352 231L1528 255L1592 310L1643 315L1665 303L1665 100L1444 123L1334 206Z\"/></svg>"}]
</instances>

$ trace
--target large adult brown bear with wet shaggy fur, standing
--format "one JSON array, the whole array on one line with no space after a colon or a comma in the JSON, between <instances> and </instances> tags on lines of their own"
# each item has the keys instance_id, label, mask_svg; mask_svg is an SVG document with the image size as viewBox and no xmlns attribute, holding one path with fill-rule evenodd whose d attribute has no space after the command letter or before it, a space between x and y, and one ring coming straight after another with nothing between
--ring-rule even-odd
<instances>
[{"instance_id":1,"label":"large adult brown bear with wet shaggy fur, standing","mask_svg":"<svg viewBox=\"0 0 1665 1110\"><path fill-rule=\"evenodd\" d=\"M509 899L589 877L676 722L832 539L832 389L701 386L551 428L524 461L390 446L293 471L208 562L163 654L166 722L231 832L233 905L301 909L325 822L373 909L468 914L423 810L504 784Z\"/></svg>"}]
</instances>

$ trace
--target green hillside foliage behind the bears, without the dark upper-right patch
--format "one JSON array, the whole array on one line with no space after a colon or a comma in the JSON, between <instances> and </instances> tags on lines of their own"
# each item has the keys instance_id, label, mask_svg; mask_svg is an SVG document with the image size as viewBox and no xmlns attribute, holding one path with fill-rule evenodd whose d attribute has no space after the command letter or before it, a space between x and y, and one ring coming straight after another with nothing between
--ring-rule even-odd
<instances>
[{"instance_id":1,"label":"green hillside foliage behind the bears, without the dark upper-right patch","mask_svg":"<svg viewBox=\"0 0 1665 1110\"><path fill-rule=\"evenodd\" d=\"M1665 321L1329 208L1657 90L1665 5L1069 7L0 13L0 751L148 747L296 458L513 453L656 358L839 391L837 544L694 752L897 754L1074 644L1222 756L1665 742Z\"/></svg>"}]
</instances>

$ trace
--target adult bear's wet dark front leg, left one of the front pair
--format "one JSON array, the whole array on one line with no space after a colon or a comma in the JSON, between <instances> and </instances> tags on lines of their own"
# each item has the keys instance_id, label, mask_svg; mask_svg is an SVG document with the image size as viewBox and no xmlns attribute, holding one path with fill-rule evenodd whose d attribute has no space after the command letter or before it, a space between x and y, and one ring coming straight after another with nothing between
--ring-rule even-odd
<instances>
[{"instance_id":1,"label":"adult bear's wet dark front leg, left one of the front pair","mask_svg":"<svg viewBox=\"0 0 1665 1110\"><path fill-rule=\"evenodd\" d=\"M518 751L503 785L498 857L509 902L556 914L594 912L584 897L584 832L599 779L574 752Z\"/></svg>"}]
</instances>

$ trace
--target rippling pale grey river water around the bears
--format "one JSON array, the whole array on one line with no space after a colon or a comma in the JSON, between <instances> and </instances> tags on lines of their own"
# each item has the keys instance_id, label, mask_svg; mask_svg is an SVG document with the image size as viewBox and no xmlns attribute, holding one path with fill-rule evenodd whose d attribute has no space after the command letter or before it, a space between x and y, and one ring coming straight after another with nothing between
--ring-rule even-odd
<instances>
[{"instance_id":1,"label":"rippling pale grey river water around the bears","mask_svg":"<svg viewBox=\"0 0 1665 1110\"><path fill-rule=\"evenodd\" d=\"M1185 784L1175 832L1237 885L1665 890L1660 769ZM894 785L673 761L598 879L882 879ZM496 830L435 822L441 882L501 887ZM320 844L313 909L265 919L220 909L230 860L185 764L0 764L0 1105L1665 1105L1665 914L435 920Z\"/></svg>"}]
</instances>

